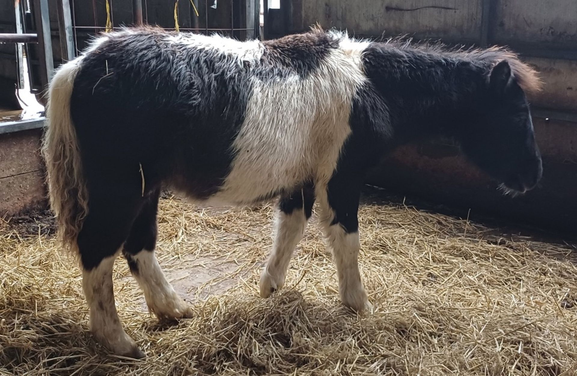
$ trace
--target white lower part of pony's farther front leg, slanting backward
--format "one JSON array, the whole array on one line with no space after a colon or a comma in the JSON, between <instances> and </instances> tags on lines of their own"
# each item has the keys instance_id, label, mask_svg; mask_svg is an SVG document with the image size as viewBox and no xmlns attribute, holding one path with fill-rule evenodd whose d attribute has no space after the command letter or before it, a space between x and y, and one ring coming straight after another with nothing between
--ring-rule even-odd
<instances>
[{"instance_id":1,"label":"white lower part of pony's farther front leg, slanting backward","mask_svg":"<svg viewBox=\"0 0 577 376\"><path fill-rule=\"evenodd\" d=\"M302 239L305 227L306 217L303 209L295 209L291 214L279 211L272 252L260 275L260 296L268 297L272 291L284 285L288 263L294 248Z\"/></svg>"}]
</instances>

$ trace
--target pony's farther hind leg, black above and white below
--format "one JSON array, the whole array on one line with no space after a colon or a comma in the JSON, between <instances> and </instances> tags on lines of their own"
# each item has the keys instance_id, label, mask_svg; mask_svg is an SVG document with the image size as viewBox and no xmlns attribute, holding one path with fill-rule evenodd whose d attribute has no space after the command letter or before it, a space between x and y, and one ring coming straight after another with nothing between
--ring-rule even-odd
<instances>
[{"instance_id":1,"label":"pony's farther hind leg, black above and white below","mask_svg":"<svg viewBox=\"0 0 577 376\"><path fill-rule=\"evenodd\" d=\"M130 272L144 292L149 310L159 318L190 318L192 310L174 291L156 260L159 191L151 193L134 220L122 250Z\"/></svg>"}]
</instances>

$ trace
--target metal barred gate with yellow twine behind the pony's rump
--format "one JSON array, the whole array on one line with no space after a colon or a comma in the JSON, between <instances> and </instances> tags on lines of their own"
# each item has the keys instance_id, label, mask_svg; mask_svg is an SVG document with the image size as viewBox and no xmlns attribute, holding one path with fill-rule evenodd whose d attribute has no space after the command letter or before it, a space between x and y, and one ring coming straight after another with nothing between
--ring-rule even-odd
<instances>
[{"instance_id":1,"label":"metal barred gate with yellow twine behind the pony's rump","mask_svg":"<svg viewBox=\"0 0 577 376\"><path fill-rule=\"evenodd\" d=\"M16 9L12 0L0 0L0 42L25 43L31 88L38 93L46 88L54 68L76 56L98 33L151 24L242 40L258 38L260 30L258 0L16 0L15 4ZM14 70L21 64L12 51L14 44L0 46L0 54L4 53L0 69Z\"/></svg>"}]
</instances>

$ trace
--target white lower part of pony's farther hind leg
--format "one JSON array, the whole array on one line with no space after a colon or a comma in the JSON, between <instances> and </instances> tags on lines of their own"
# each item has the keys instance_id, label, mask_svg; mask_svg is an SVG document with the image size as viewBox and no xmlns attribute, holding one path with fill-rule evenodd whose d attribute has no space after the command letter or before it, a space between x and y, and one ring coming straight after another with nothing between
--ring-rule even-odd
<instances>
[{"instance_id":1,"label":"white lower part of pony's farther hind leg","mask_svg":"<svg viewBox=\"0 0 577 376\"><path fill-rule=\"evenodd\" d=\"M148 308L158 318L180 319L192 317L192 310L166 280L154 251L142 250L130 256L137 265L132 276L144 292Z\"/></svg>"}]
</instances>

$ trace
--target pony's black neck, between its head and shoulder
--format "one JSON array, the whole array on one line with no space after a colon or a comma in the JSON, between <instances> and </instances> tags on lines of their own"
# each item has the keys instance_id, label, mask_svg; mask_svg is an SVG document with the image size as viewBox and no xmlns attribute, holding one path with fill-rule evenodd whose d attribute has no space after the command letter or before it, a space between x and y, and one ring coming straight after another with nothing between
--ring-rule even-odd
<instances>
[{"instance_id":1,"label":"pony's black neck, between its head and shoulder","mask_svg":"<svg viewBox=\"0 0 577 376\"><path fill-rule=\"evenodd\" d=\"M437 51L381 46L377 90L399 141L455 136L475 116L488 64Z\"/></svg>"}]
</instances>

